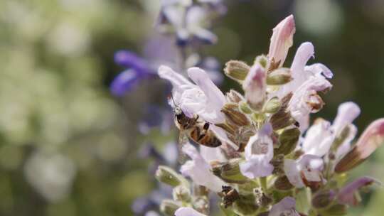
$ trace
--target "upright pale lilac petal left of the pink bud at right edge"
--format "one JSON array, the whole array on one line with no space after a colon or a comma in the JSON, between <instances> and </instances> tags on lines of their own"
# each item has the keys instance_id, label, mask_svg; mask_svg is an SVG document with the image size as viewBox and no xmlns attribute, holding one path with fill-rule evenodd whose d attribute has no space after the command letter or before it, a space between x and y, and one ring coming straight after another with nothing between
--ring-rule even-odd
<instances>
[{"instance_id":1,"label":"upright pale lilac petal left of the pink bud at right edge","mask_svg":"<svg viewBox=\"0 0 384 216\"><path fill-rule=\"evenodd\" d=\"M340 134L344 127L348 126L360 114L361 110L354 102L345 102L340 104L337 109L337 115L332 124L335 134Z\"/></svg>"}]
</instances>

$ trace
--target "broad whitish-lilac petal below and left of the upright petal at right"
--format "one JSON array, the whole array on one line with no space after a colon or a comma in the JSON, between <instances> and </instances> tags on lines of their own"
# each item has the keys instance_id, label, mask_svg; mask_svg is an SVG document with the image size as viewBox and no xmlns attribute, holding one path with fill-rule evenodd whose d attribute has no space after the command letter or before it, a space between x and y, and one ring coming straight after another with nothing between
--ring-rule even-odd
<instances>
[{"instance_id":1,"label":"broad whitish-lilac petal below and left of the upright petal at right","mask_svg":"<svg viewBox=\"0 0 384 216\"><path fill-rule=\"evenodd\" d=\"M314 124L306 131L302 150L306 154L324 156L328 153L334 141L331 124L324 119L316 119Z\"/></svg>"}]
</instances>

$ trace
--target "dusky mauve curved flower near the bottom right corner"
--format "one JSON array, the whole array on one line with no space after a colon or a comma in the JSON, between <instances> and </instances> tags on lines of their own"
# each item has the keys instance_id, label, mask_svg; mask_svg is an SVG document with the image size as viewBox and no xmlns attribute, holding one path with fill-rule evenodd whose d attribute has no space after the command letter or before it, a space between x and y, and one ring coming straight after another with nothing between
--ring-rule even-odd
<instances>
[{"instance_id":1,"label":"dusky mauve curved flower near the bottom right corner","mask_svg":"<svg viewBox=\"0 0 384 216\"><path fill-rule=\"evenodd\" d=\"M355 192L357 192L360 188L371 185L375 182L378 183L377 180L366 176L353 180L353 182L344 186L338 192L338 202L347 205L358 205L358 200L355 197Z\"/></svg>"}]
</instances>

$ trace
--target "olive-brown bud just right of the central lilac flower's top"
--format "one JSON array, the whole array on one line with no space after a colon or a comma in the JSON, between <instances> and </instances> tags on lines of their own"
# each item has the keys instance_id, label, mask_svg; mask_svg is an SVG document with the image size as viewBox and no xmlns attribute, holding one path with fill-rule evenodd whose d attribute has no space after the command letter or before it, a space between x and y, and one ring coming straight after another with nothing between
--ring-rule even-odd
<instances>
[{"instance_id":1,"label":"olive-brown bud just right of the central lilac flower's top","mask_svg":"<svg viewBox=\"0 0 384 216\"><path fill-rule=\"evenodd\" d=\"M292 129L284 129L282 131L282 134L279 136L279 148L275 149L276 154L284 154L287 155L294 151L294 148L296 148L297 141L299 141L300 137L300 130L297 127L294 127Z\"/></svg>"}]
</instances>

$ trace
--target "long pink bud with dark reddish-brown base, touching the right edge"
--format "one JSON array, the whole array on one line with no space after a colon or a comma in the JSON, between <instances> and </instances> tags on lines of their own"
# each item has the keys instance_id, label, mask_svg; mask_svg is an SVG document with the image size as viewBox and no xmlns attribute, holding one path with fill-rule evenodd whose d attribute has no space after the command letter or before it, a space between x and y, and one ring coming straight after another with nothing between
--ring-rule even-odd
<instances>
[{"instance_id":1,"label":"long pink bud with dark reddish-brown base, touching the right edge","mask_svg":"<svg viewBox=\"0 0 384 216\"><path fill-rule=\"evenodd\" d=\"M356 145L336 164L335 172L343 173L366 160L384 142L384 118L373 121L358 139Z\"/></svg>"}]
</instances>

